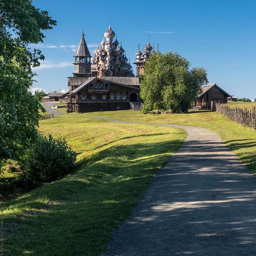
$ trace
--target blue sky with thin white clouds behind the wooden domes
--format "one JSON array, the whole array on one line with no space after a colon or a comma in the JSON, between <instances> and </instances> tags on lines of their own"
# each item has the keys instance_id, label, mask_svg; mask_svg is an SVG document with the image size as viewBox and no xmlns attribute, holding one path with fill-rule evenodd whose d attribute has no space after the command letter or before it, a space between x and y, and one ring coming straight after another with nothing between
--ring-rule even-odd
<instances>
[{"instance_id":1,"label":"blue sky with thin white clouds behind the wooden domes","mask_svg":"<svg viewBox=\"0 0 256 256\"><path fill-rule=\"evenodd\" d=\"M142 51L149 35L151 45L159 43L160 52L173 50L191 67L206 68L209 83L239 98L256 98L256 1L34 0L33 4L58 21L45 32L43 45L36 47L45 60L35 69L34 88L67 90L82 29L92 52L111 19L131 62L138 43Z\"/></svg>"}]
</instances>

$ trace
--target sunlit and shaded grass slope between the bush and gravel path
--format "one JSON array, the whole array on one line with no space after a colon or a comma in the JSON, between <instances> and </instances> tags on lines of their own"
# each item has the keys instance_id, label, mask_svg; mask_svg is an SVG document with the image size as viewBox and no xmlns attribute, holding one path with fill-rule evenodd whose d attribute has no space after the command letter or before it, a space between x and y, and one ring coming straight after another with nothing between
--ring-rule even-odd
<instances>
[{"instance_id":1,"label":"sunlit and shaded grass slope between the bush and gravel path","mask_svg":"<svg viewBox=\"0 0 256 256\"><path fill-rule=\"evenodd\" d=\"M40 130L66 137L76 170L5 203L4 255L99 255L186 137L77 114L40 121Z\"/></svg>"}]
</instances>

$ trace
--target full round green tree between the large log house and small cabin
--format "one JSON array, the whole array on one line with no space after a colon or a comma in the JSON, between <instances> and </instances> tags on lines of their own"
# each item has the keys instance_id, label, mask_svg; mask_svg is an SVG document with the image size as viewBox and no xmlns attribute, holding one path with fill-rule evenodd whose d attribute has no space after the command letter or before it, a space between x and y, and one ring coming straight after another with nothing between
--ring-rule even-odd
<instances>
[{"instance_id":1,"label":"full round green tree between the large log house and small cabin","mask_svg":"<svg viewBox=\"0 0 256 256\"><path fill-rule=\"evenodd\" d=\"M178 53L152 54L141 79L140 96L144 100L141 110L144 113L153 109L187 112L201 86L208 83L204 68L189 70L189 67L189 61Z\"/></svg>"}]
</instances>

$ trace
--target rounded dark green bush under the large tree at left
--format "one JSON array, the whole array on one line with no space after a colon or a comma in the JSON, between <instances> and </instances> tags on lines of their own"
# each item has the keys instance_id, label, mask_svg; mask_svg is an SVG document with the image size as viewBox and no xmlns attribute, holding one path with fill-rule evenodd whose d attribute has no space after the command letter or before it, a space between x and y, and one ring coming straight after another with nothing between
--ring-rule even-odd
<instances>
[{"instance_id":1,"label":"rounded dark green bush under the large tree at left","mask_svg":"<svg viewBox=\"0 0 256 256\"><path fill-rule=\"evenodd\" d=\"M39 135L37 145L23 159L24 178L36 183L58 180L70 173L75 161L76 152L65 138Z\"/></svg>"}]
</instances>

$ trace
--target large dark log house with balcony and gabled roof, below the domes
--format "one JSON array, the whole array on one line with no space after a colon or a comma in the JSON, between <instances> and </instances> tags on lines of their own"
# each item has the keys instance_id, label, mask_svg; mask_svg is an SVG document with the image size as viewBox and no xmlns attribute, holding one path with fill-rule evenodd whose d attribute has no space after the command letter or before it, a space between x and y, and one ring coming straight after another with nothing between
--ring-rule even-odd
<instances>
[{"instance_id":1,"label":"large dark log house with balcony and gabled roof, below the domes","mask_svg":"<svg viewBox=\"0 0 256 256\"><path fill-rule=\"evenodd\" d=\"M80 82L77 77L69 77L67 103L69 110L76 113L126 110L140 102L137 77L90 77Z\"/></svg>"}]
</instances>

